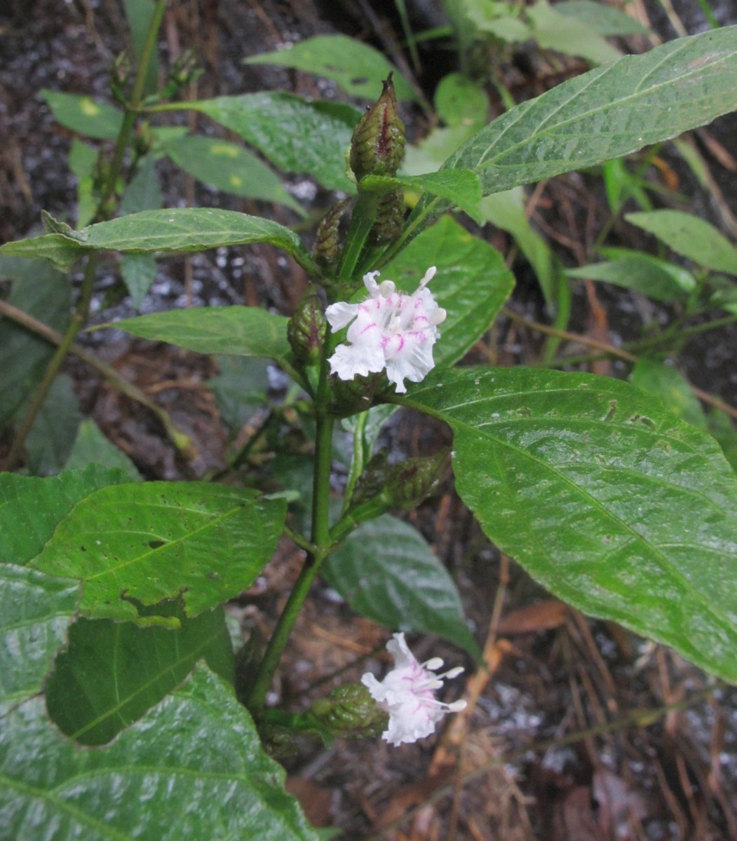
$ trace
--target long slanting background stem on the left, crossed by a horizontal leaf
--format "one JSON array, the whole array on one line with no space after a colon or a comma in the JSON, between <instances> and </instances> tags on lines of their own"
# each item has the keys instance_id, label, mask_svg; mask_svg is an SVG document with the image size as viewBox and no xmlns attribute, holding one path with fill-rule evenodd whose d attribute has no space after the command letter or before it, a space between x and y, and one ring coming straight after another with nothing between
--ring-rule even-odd
<instances>
[{"instance_id":1,"label":"long slanting background stem on the left, crossed by a horizontal leaf","mask_svg":"<svg viewBox=\"0 0 737 841\"><path fill-rule=\"evenodd\" d=\"M135 118L138 114L138 108L141 106L141 98L143 96L144 86L146 85L146 73L151 62L153 50L156 48L156 36L159 28L162 25L164 11L167 8L167 0L157 0L156 8L151 15L151 24L149 24L148 32L146 33L146 41L141 50L141 61L139 61L138 68L135 73L135 80L133 82L133 89L130 95L130 103L125 105L125 117L123 124L120 126L118 133L118 140L115 143L115 151L113 161L110 165L108 180L105 182L100 201L98 204L97 213L93 221L99 221L109 215L109 200L114 196L115 188L118 183L120 172L123 168L123 160L125 158L125 150L128 148L130 141L130 133L135 124ZM34 391L34 396L31 399L30 405L25 412L23 419L20 421L18 429L13 438L13 446L10 447L10 452L5 459L3 468L5 470L12 470L19 460L19 456L23 451L25 439L34 425L36 415L38 415L41 406L49 394L50 388L56 379L56 374L59 373L62 362L66 358L66 353L72 347L77 334L82 327L87 324L89 315L89 304L92 300L93 283L95 271L98 267L98 253L93 252L87 259L87 266L84 269L84 277L82 278L82 288L80 289L79 299L77 299L77 306L72 315L72 320L66 328L66 333L61 340L60 345L56 349L56 353L51 357L48 367L45 370L41 382Z\"/></svg>"}]
</instances>

